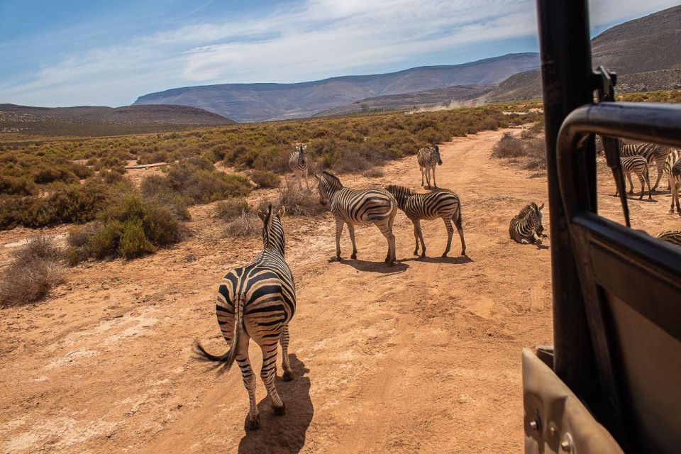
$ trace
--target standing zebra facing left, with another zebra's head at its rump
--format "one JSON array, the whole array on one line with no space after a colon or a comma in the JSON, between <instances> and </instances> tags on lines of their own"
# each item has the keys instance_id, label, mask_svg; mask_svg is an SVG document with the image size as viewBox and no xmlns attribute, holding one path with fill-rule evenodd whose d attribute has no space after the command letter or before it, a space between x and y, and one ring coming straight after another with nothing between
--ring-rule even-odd
<instances>
[{"instance_id":1,"label":"standing zebra facing left, with another zebra's head at its rump","mask_svg":"<svg viewBox=\"0 0 681 454\"><path fill-rule=\"evenodd\" d=\"M353 259L357 258L355 226L373 223L388 241L385 262L394 265L395 236L392 233L392 224L397 214L395 211L397 202L394 197L383 189L356 191L343 187L341 180L326 170L314 177L319 181L319 203L322 205L331 203L331 214L336 218L336 259L341 261L341 233L346 223L350 241L353 243L353 255L350 256Z\"/></svg>"}]
</instances>

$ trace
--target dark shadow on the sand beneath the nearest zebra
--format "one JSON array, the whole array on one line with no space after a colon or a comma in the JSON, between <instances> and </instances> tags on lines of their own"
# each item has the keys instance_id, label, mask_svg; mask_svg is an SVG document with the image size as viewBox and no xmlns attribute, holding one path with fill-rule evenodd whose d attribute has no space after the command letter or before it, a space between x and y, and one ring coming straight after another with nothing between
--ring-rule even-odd
<instances>
[{"instance_id":1,"label":"dark shadow on the sand beneath the nearest zebra","mask_svg":"<svg viewBox=\"0 0 681 454\"><path fill-rule=\"evenodd\" d=\"M247 431L239 443L239 454L299 453L305 445L305 434L312 421L314 406L310 398L310 372L296 355L289 355L296 377L284 382L277 377L277 391L286 404L286 414L275 416L265 397L258 404L260 428Z\"/></svg>"}]
</instances>

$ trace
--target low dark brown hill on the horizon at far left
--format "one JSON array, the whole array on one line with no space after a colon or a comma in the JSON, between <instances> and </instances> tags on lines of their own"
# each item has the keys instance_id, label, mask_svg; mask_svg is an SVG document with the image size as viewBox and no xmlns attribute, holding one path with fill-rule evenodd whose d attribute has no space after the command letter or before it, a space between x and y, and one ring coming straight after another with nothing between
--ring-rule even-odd
<instances>
[{"instance_id":1,"label":"low dark brown hill on the horizon at far left","mask_svg":"<svg viewBox=\"0 0 681 454\"><path fill-rule=\"evenodd\" d=\"M0 104L0 132L58 135L148 133L235 123L190 106L30 107Z\"/></svg>"}]
</instances>

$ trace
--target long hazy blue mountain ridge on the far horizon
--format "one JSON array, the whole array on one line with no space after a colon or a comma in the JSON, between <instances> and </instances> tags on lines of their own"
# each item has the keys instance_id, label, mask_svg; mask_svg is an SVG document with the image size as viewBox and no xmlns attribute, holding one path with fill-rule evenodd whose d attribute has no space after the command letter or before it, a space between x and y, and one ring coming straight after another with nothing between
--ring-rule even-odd
<instances>
[{"instance_id":1,"label":"long hazy blue mountain ridge on the far horizon","mask_svg":"<svg viewBox=\"0 0 681 454\"><path fill-rule=\"evenodd\" d=\"M538 66L537 53L509 54L463 65L423 66L387 74L332 77L298 84L221 84L177 88L145 94L133 105L195 106L242 122L300 118L374 96L443 89L453 85L498 84L511 74Z\"/></svg>"}]
</instances>

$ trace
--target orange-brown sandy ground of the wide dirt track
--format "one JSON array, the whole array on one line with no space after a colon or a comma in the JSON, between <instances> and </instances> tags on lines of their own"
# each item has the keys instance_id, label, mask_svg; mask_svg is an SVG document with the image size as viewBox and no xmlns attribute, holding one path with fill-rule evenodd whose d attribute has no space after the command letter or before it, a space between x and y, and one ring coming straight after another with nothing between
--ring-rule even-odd
<instances>
[{"instance_id":1,"label":"orange-brown sandy ground of the wide dirt track","mask_svg":"<svg viewBox=\"0 0 681 454\"><path fill-rule=\"evenodd\" d=\"M441 146L438 182L463 200L468 258L458 257L456 235L453 257L440 258L440 221L424 223L429 258L413 258L411 223L399 213L397 266L382 264L386 245L373 226L358 229L358 260L329 263L331 217L284 218L298 294L297 379L277 380L285 416L272 414L258 381L262 428L245 433L238 368L216 377L192 359L194 338L226 350L217 284L260 250L258 238L226 238L212 207L196 206L193 236L174 248L86 262L43 303L0 311L0 452L521 452L520 353L551 343L550 251L511 242L508 225L529 201L546 201L546 178L489 159L502 132ZM343 181L419 187L415 157L384 172ZM616 218L607 172L599 180L602 213ZM681 228L668 194L655 199L631 201L633 225ZM0 264L36 234L1 232ZM342 245L348 257L347 233ZM253 345L251 358L259 369Z\"/></svg>"}]
</instances>

